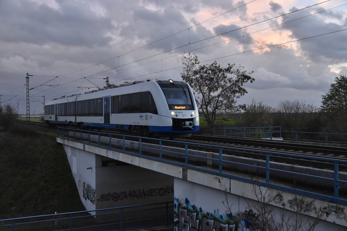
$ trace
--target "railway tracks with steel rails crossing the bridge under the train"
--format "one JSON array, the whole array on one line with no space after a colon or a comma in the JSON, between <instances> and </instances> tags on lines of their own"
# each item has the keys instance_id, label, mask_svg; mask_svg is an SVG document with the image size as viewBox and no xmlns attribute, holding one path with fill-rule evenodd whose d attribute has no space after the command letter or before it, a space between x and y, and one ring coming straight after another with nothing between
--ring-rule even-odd
<instances>
[{"instance_id":1,"label":"railway tracks with steel rails crossing the bridge under the train","mask_svg":"<svg viewBox=\"0 0 347 231\"><path fill-rule=\"evenodd\" d=\"M39 126L48 126L45 123L41 122L26 122L20 121L23 123L30 123L33 125ZM93 131L91 131L93 132ZM110 131L104 131L110 132ZM122 135L121 133L114 132L115 135ZM128 134L127 134L128 135ZM128 137L127 139L132 139ZM246 157L257 160L265 160L265 154L259 153L258 151L264 152L273 152L274 154L271 157L272 161L279 163L286 163L290 165L300 165L306 167L320 168L333 170L334 166L332 163L325 163L313 160L303 160L294 158L294 157L282 157L277 156L275 153L286 153L286 154L300 154L311 157L327 157L330 159L347 159L347 148L337 147L331 145L317 145L317 144L303 144L301 142L296 143L287 143L287 142L276 142L276 141L266 141L266 140L250 140L250 139L240 139L235 137L216 137L216 136L207 136L207 135L192 135L191 137L177 138L176 141L184 141L188 143L189 149L194 150L203 150L206 152L219 152L218 148L209 148L201 146L199 144L212 144L220 147L228 148L238 148L243 150L229 150L223 149L223 154L233 155L238 157ZM167 142L163 141L162 145L167 146L176 146L179 148L184 148L183 144L170 142L170 139L167 139ZM142 142L153 143L150 139L143 138ZM155 141L154 141L155 142ZM253 150L253 151L252 151ZM347 172L347 166L341 165L339 168L340 171Z\"/></svg>"}]
</instances>

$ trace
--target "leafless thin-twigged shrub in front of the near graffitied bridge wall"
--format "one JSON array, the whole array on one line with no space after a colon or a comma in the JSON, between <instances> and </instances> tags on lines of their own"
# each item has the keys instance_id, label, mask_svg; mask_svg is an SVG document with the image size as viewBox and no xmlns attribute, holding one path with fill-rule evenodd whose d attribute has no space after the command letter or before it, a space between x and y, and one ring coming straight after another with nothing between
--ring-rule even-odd
<instances>
[{"instance_id":1,"label":"leafless thin-twigged shrub in front of the near graffitied bridge wall","mask_svg":"<svg viewBox=\"0 0 347 231\"><path fill-rule=\"evenodd\" d=\"M275 207L271 204L272 202L283 204L283 192L270 195L269 190L270 188L264 187L263 189L254 181L252 184L252 194L256 199L246 199L247 197L243 195L249 209L234 216L235 223L241 230L248 228L249 230L259 231L313 231L324 215L324 211L321 208L313 206L314 200L307 201L305 197L298 197L295 195L293 199L288 201L294 215L288 215L284 208L277 207L276 212L280 210L280 213L279 219L275 219L273 216ZM228 190L224 188L225 201L222 203L231 213L232 204L230 204L228 200L227 191ZM311 210L316 214L311 221L303 218L303 213L307 210Z\"/></svg>"}]
</instances>

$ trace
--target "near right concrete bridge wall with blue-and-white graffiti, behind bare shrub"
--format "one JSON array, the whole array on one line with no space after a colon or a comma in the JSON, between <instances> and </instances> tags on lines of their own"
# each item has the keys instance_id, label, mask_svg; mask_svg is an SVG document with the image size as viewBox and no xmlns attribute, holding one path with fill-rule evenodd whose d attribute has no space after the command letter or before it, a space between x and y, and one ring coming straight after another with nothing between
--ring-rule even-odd
<instances>
[{"instance_id":1,"label":"near right concrete bridge wall with blue-and-white graffiti, behind bare shrub","mask_svg":"<svg viewBox=\"0 0 347 231\"><path fill-rule=\"evenodd\" d=\"M273 195L271 190L263 191L263 188L256 186L254 192L259 193L259 190L263 191L263 194L257 194L254 193L251 188L248 188L248 190L242 188L241 184L231 184L231 191L233 191L233 187L237 186L239 188L236 191L239 191L241 188L244 194L243 196L230 193L230 185L227 185L225 188L226 191L223 191L178 178L175 178L174 184L175 231L264 230L262 229L262 213L257 210L257 208L260 208L261 204L258 200L251 199L255 197L255 195L263 195L265 201L269 198L272 199L271 202L266 205L266 210L272 210L270 216L273 217L276 223L281 222L281 214L285 214L284 220L289 221L289 224L292 225L300 221L300 219L304 222L308 221L302 229L298 229L306 231L309 224L313 224L316 220L315 216L321 214L323 216L322 220L319 220L314 230L346 230L346 214L343 213L343 211L337 211L336 207L330 207L330 209L327 206L321 207L321 205L323 205L321 202L315 202L309 198L303 198L303 200L298 202L294 201L295 199L293 198L287 199L288 195L282 195L280 193ZM225 186L221 185L221 187ZM277 206L273 204L277 204ZM305 212L311 215L299 214L299 217L296 218L298 213L293 212L293 210L298 208L305 209ZM345 225L336 224L335 221L325 221L329 216L330 220L340 221L345 223ZM293 229L284 228L283 230Z\"/></svg>"}]
</instances>

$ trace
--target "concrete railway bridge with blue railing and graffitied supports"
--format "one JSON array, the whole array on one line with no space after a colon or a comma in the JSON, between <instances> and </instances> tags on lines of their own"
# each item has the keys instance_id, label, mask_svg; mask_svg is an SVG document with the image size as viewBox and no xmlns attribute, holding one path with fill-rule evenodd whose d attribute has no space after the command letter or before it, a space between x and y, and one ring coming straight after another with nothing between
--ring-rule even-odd
<instances>
[{"instance_id":1,"label":"concrete railway bridge with blue railing and graffitied supports","mask_svg":"<svg viewBox=\"0 0 347 231\"><path fill-rule=\"evenodd\" d=\"M57 142L87 210L172 201L179 231L263 230L280 223L347 230L344 160L252 150L264 157L254 159L225 154L243 148L198 144L208 150L199 151L187 142L68 128L59 128ZM333 167L299 165L304 160Z\"/></svg>"}]
</instances>

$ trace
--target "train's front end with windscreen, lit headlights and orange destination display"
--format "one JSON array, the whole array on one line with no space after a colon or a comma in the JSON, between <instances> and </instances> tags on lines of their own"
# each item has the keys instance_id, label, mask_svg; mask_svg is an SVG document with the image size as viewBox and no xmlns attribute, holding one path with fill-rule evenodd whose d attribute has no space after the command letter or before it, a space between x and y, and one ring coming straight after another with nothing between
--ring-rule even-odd
<instances>
[{"instance_id":1,"label":"train's front end with windscreen, lit headlights and orange destination display","mask_svg":"<svg viewBox=\"0 0 347 231\"><path fill-rule=\"evenodd\" d=\"M158 80L172 119L173 136L187 137L199 130L199 113L191 87L182 81Z\"/></svg>"}]
</instances>

